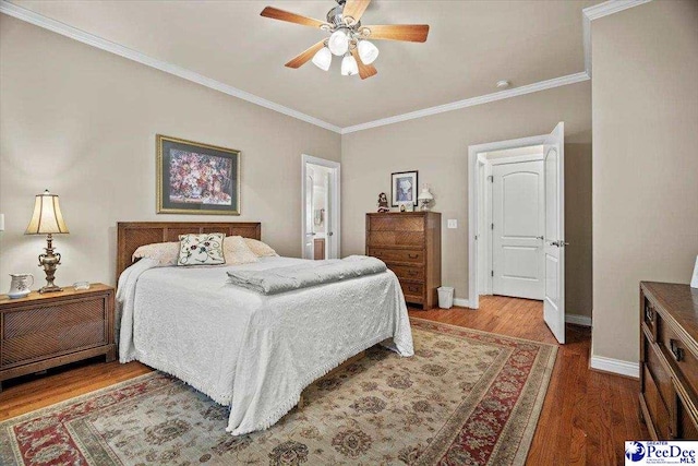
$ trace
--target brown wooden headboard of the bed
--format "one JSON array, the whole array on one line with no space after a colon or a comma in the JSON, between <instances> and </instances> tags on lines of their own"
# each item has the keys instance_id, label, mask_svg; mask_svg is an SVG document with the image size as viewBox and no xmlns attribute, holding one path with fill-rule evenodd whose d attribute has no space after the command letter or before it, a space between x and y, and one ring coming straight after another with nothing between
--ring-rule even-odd
<instances>
[{"instance_id":1,"label":"brown wooden headboard of the bed","mask_svg":"<svg viewBox=\"0 0 698 466\"><path fill-rule=\"evenodd\" d=\"M119 222L117 224L117 279L139 247L153 242L179 241L180 235L225 232L226 236L262 239L258 222Z\"/></svg>"}]
</instances>

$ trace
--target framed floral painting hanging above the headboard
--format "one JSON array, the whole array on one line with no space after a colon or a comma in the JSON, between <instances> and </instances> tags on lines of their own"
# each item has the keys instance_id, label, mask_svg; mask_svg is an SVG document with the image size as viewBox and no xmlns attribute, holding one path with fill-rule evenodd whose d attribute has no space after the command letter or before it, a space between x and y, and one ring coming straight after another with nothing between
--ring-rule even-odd
<instances>
[{"instance_id":1,"label":"framed floral painting hanging above the headboard","mask_svg":"<svg viewBox=\"0 0 698 466\"><path fill-rule=\"evenodd\" d=\"M156 135L158 214L240 215L241 152Z\"/></svg>"}]
</instances>

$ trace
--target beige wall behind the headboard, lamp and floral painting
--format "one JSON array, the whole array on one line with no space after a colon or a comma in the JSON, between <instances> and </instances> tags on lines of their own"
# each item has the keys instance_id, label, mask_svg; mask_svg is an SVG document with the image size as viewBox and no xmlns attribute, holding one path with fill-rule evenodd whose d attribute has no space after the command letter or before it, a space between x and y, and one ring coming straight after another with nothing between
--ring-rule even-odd
<instances>
[{"instance_id":1,"label":"beige wall behind the headboard, lamp and floral painting","mask_svg":"<svg viewBox=\"0 0 698 466\"><path fill-rule=\"evenodd\" d=\"M71 234L58 283L115 283L119 220L260 220L300 255L301 154L339 160L339 134L0 15L0 291L32 272L34 195L60 195ZM242 215L155 214L155 134L242 151Z\"/></svg>"}]
</instances>

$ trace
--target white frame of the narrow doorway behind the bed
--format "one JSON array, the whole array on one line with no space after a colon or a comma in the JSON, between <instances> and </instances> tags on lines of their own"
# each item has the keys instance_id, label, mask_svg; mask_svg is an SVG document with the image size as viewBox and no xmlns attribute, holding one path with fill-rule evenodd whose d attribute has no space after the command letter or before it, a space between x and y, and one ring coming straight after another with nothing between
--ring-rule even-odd
<instances>
[{"instance_id":1,"label":"white frame of the narrow doorway behind the bed","mask_svg":"<svg viewBox=\"0 0 698 466\"><path fill-rule=\"evenodd\" d=\"M325 244L327 244L327 242L332 244L332 249L327 250L327 255L339 258L341 252L341 164L339 162L327 160L325 158L314 157L308 154L301 155L301 258L305 254L305 225L308 224L308 214L305 210L308 164L329 168L332 183L334 186L334 190L332 190L330 193L332 199L329 201L332 210L332 219L329 222L334 231L332 235L333 240L326 241Z\"/></svg>"}]
</instances>

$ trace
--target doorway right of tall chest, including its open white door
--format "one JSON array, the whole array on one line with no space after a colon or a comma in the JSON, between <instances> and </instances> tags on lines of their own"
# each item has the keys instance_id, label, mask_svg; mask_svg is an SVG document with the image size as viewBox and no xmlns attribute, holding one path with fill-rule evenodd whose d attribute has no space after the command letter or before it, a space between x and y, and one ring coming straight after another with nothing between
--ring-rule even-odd
<instances>
[{"instance_id":1,"label":"doorway right of tall chest, including its open white door","mask_svg":"<svg viewBox=\"0 0 698 466\"><path fill-rule=\"evenodd\" d=\"M550 134L468 148L469 304L480 295L543 301L565 343L564 123Z\"/></svg>"}]
</instances>

